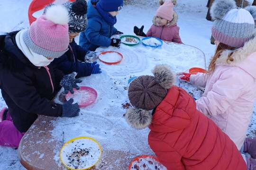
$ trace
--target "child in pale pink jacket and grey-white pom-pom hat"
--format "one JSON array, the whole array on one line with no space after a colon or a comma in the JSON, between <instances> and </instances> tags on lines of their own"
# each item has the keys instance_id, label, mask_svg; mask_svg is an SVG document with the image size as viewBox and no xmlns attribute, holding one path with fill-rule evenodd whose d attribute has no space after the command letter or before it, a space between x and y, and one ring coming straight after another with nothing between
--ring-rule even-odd
<instances>
[{"instance_id":1,"label":"child in pale pink jacket and grey-white pom-pom hat","mask_svg":"<svg viewBox=\"0 0 256 170\"><path fill-rule=\"evenodd\" d=\"M254 10L252 6L247 10L237 8L232 0L216 0L211 16L215 19L212 35L217 49L209 71L182 73L180 79L205 88L203 96L196 100L197 109L210 117L238 150L256 159L256 138L246 138L256 99L256 16L250 13Z\"/></svg>"}]
</instances>

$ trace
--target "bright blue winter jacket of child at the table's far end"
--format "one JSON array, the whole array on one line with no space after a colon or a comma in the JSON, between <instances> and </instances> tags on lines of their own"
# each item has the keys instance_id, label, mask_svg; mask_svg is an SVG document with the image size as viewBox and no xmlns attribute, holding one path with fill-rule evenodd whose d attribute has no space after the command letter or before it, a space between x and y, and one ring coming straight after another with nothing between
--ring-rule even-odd
<instances>
[{"instance_id":1,"label":"bright blue winter jacket of child at the table's far end","mask_svg":"<svg viewBox=\"0 0 256 170\"><path fill-rule=\"evenodd\" d=\"M109 47L110 37L116 33L117 29L105 22L91 1L87 6L87 20L87 28L80 33L79 37L82 48L86 51L95 51L100 46Z\"/></svg>"}]
</instances>

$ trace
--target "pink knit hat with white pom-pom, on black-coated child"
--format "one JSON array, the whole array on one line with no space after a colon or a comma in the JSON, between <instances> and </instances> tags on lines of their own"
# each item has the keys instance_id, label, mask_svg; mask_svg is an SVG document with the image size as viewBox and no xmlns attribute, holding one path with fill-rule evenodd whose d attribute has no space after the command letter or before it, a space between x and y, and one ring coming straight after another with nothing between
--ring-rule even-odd
<instances>
[{"instance_id":1,"label":"pink knit hat with white pom-pom, on black-coated child","mask_svg":"<svg viewBox=\"0 0 256 170\"><path fill-rule=\"evenodd\" d=\"M47 9L23 35L27 47L45 57L62 56L69 45L68 11L58 5Z\"/></svg>"}]
</instances>

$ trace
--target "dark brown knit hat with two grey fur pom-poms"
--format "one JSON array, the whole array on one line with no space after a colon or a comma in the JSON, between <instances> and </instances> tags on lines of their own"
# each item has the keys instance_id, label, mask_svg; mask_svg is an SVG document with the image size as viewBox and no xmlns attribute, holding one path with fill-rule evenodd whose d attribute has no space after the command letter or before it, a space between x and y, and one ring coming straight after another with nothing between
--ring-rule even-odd
<instances>
[{"instance_id":1,"label":"dark brown knit hat with two grey fur pom-poms","mask_svg":"<svg viewBox=\"0 0 256 170\"><path fill-rule=\"evenodd\" d=\"M174 85L175 76L167 65L153 69L154 76L139 76L128 89L128 97L135 108L127 110L126 120L135 128L145 128L151 124L153 110L165 98L168 89Z\"/></svg>"}]
</instances>

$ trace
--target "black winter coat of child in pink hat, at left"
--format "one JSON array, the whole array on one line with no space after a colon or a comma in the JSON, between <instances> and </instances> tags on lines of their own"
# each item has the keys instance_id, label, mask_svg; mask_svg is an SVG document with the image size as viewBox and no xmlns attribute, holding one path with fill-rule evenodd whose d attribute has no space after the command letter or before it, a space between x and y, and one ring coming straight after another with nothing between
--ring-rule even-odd
<instances>
[{"instance_id":1,"label":"black winter coat of child in pink hat, at left","mask_svg":"<svg viewBox=\"0 0 256 170\"><path fill-rule=\"evenodd\" d=\"M0 88L15 127L26 132L37 115L62 115L62 106L51 100L64 74L51 65L34 66L18 49L17 33L0 35Z\"/></svg>"}]
</instances>

